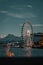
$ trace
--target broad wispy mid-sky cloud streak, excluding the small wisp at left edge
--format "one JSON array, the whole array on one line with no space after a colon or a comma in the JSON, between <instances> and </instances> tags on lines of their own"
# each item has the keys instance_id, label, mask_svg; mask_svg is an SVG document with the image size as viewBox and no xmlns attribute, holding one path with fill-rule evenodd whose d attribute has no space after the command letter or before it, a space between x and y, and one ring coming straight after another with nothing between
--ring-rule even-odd
<instances>
[{"instance_id":1,"label":"broad wispy mid-sky cloud streak, excluding the small wisp at left edge","mask_svg":"<svg viewBox=\"0 0 43 65\"><path fill-rule=\"evenodd\" d=\"M25 19L25 18L33 18L33 17L36 17L34 14L32 13L26 13L26 14L18 14L18 13L7 13L8 16L12 16L12 17L16 17L16 18L22 18L22 19Z\"/></svg>"}]
</instances>

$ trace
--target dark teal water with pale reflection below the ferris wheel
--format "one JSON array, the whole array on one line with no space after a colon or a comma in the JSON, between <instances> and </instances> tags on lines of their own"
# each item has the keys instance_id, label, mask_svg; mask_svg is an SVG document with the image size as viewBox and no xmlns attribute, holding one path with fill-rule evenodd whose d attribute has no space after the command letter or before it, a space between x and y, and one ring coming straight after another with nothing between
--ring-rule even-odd
<instances>
[{"instance_id":1,"label":"dark teal water with pale reflection below the ferris wheel","mask_svg":"<svg viewBox=\"0 0 43 65\"><path fill-rule=\"evenodd\" d=\"M15 57L25 57L31 55L32 57L40 57L43 56L43 49L31 49L31 48L11 48L13 53L15 53ZM5 57L5 48L0 48L0 57Z\"/></svg>"}]
</instances>

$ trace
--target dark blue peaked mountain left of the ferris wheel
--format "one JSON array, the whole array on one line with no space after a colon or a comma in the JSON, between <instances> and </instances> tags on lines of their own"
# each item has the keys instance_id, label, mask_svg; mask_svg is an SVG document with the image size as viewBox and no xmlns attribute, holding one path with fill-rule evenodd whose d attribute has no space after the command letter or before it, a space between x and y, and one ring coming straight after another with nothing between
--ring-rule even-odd
<instances>
[{"instance_id":1,"label":"dark blue peaked mountain left of the ferris wheel","mask_svg":"<svg viewBox=\"0 0 43 65\"><path fill-rule=\"evenodd\" d=\"M14 36L13 34L8 34L6 37L0 39L0 43L4 42L17 42L20 41L21 37Z\"/></svg>"}]
</instances>

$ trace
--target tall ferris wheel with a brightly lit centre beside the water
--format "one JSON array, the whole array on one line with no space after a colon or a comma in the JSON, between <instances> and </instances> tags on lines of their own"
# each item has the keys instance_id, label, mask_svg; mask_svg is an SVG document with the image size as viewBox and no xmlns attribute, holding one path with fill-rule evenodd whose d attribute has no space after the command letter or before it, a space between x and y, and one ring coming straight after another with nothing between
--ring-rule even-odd
<instances>
[{"instance_id":1,"label":"tall ferris wheel with a brightly lit centre beside the water","mask_svg":"<svg viewBox=\"0 0 43 65\"><path fill-rule=\"evenodd\" d=\"M33 41L33 28L32 28L32 25L29 21L26 21L23 24L22 30L21 30L21 37L22 37L23 43L30 44L29 38L31 38L31 40Z\"/></svg>"}]
</instances>

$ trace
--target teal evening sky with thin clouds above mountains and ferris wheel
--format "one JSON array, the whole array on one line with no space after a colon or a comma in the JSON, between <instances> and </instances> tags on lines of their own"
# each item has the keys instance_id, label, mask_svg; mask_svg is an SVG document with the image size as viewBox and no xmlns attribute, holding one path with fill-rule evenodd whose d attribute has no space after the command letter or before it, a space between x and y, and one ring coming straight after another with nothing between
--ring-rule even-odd
<instances>
[{"instance_id":1,"label":"teal evening sky with thin clouds above mountains and ferris wheel","mask_svg":"<svg viewBox=\"0 0 43 65\"><path fill-rule=\"evenodd\" d=\"M43 33L43 0L0 0L0 34L20 36L27 20Z\"/></svg>"}]
</instances>

